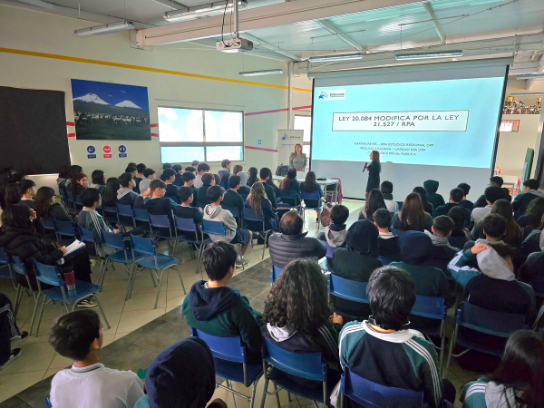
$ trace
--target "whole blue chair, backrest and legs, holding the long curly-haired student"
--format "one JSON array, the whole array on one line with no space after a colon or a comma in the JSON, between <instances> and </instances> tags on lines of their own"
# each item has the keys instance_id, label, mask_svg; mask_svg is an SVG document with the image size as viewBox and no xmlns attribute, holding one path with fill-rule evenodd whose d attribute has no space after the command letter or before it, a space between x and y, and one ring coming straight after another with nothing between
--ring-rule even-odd
<instances>
[{"instance_id":1,"label":"whole blue chair, backrest and legs, holding the long curly-haired student","mask_svg":"<svg viewBox=\"0 0 544 408\"><path fill-rule=\"evenodd\" d=\"M276 395L279 408L277 393L281 390L286 390L289 396L294 393L315 403L325 403L326 405L332 390L326 384L326 364L323 362L321 353L291 353L272 344L267 338L263 338L262 353L265 387L261 407L265 406L267 395ZM299 384L291 376L320 382L323 384L323 388ZM272 393L268 392L269 381L274 384Z\"/></svg>"}]
</instances>

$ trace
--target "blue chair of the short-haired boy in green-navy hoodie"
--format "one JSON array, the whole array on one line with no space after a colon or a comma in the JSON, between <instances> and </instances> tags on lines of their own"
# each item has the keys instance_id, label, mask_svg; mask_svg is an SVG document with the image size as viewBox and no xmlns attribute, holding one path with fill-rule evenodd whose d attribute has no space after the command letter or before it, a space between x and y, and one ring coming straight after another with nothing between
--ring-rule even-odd
<instances>
[{"instance_id":1,"label":"blue chair of the short-haired boy in green-navy hoodie","mask_svg":"<svg viewBox=\"0 0 544 408\"><path fill-rule=\"evenodd\" d=\"M207 335L194 327L190 328L190 334L204 340L209 346L215 361L216 375L227 380L227 386L223 384L218 384L218 386L229 393L245 398L249 402L249 408L253 408L257 383L263 374L263 366L261 363L248 363L248 352L240 336L219 337L217 335ZM229 384L230 381L244 384L246 387L252 385L251 396L234 391Z\"/></svg>"}]
</instances>

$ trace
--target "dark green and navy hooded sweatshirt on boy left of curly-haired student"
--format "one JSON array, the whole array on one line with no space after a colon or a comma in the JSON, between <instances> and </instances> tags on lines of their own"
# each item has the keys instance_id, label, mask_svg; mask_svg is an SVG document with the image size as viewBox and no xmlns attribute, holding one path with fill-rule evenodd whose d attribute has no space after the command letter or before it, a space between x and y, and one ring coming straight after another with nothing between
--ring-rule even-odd
<instances>
[{"instance_id":1,"label":"dark green and navy hooded sweatshirt on boy left of curly-haired student","mask_svg":"<svg viewBox=\"0 0 544 408\"><path fill-rule=\"evenodd\" d=\"M249 306L248 297L240 295L239 290L210 288L205 280L199 280L185 296L182 310L190 327L219 337L239 335L250 355L260 355L262 314Z\"/></svg>"}]
</instances>

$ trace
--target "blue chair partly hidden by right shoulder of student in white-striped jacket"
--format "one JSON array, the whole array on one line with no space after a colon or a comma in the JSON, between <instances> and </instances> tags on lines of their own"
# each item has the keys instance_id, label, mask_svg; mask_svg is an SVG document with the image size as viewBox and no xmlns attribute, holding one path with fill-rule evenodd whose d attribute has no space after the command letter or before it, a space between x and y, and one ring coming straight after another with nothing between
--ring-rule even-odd
<instances>
[{"instance_id":1,"label":"blue chair partly hidden by right shoulder of student in white-striped jacket","mask_svg":"<svg viewBox=\"0 0 544 408\"><path fill-rule=\"evenodd\" d=\"M436 345L434 345L434 343L432 343L432 345L440 350L439 367L442 369L442 361L444 358L444 345L446 342L446 306L444 305L443 297L416 295L415 304L413 305L412 312L410 314L413 316L425 317L427 319L433 319L440 322L440 325L434 327L418 327L417 325L411 325L410 327L423 333L423 335L425 335L425 337L427 337L427 340L429 340L431 343L432 341L429 336L440 337L440 347L437 347Z\"/></svg>"}]
</instances>

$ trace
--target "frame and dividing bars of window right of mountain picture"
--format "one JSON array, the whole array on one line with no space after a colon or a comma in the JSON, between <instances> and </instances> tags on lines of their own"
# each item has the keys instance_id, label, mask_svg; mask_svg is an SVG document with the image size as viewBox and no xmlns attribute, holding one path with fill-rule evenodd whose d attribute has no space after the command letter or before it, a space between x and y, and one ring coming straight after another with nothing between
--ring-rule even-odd
<instances>
[{"instance_id":1,"label":"frame and dividing bars of window right of mountain picture","mask_svg":"<svg viewBox=\"0 0 544 408\"><path fill-rule=\"evenodd\" d=\"M202 133L203 141L160 141L160 120L159 120L159 109L160 108L169 108L169 109L186 109L190 111L202 111ZM242 141L206 141L206 111L209 112L234 112L240 113L242 115ZM232 161L244 161L246 157L246 117L245 111L232 111L229 109L207 109L207 108L194 108L194 107L185 107L185 106L169 106L169 105L158 105L157 106L157 125L159 128L159 144L160 148L162 147L203 147L204 148L204 161L206 162L216 162L208 160L208 151L207 147L221 147L221 146L240 146L242 150L242 158L240 160ZM220 161L220 160L219 160ZM217 161L217 162L219 162ZM160 151L160 162L162 163L162 151Z\"/></svg>"}]
</instances>

